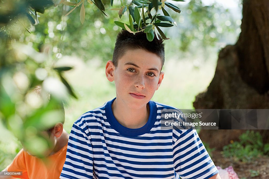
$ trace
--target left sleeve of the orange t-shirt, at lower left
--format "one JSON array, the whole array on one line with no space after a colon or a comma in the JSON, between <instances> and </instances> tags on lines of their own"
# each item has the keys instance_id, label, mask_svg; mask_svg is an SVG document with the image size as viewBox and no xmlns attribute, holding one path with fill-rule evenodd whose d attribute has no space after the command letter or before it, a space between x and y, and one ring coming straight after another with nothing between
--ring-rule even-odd
<instances>
[{"instance_id":1,"label":"left sleeve of the orange t-shirt, at lower left","mask_svg":"<svg viewBox=\"0 0 269 179\"><path fill-rule=\"evenodd\" d=\"M19 153L15 156L13 159L12 163L10 163L6 169L7 171L22 171L22 176L13 176L13 177L19 177L19 178L28 178L27 174L27 168L26 168L26 163L25 163L25 152L23 149L19 151Z\"/></svg>"}]
</instances>

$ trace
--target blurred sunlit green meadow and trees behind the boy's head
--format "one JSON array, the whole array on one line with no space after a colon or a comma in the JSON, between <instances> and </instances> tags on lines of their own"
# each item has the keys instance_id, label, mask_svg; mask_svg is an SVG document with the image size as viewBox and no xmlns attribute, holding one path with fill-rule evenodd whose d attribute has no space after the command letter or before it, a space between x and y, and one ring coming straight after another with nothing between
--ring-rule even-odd
<instances>
[{"instance_id":1,"label":"blurred sunlit green meadow and trees behind the boy's head","mask_svg":"<svg viewBox=\"0 0 269 179\"><path fill-rule=\"evenodd\" d=\"M106 9L111 8L109 2L104 1ZM165 76L152 100L181 109L193 108L195 96L206 90L214 76L219 50L237 41L242 9L239 0L233 2L236 5L208 0L173 2L182 12L171 12L177 27L162 28L170 38L165 41ZM114 24L119 20L118 14L106 10L108 17L105 17L90 3L85 3L85 9L83 25L79 8L64 16L70 8L59 5L40 14L39 24L23 22L31 34L23 26L14 32L19 42L37 51L48 51L53 63L74 67L64 73L79 97L78 100L70 97L65 102L64 127L68 132L81 114L115 97L114 83L105 76L105 63L112 59L120 30ZM1 171L22 147L1 123L0 131Z\"/></svg>"}]
</instances>

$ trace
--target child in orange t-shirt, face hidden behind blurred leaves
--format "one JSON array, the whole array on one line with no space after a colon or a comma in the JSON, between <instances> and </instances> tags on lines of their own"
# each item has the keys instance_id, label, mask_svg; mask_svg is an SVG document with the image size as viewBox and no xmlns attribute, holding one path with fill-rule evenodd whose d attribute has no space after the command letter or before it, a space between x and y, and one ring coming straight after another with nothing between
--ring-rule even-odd
<instances>
[{"instance_id":1,"label":"child in orange t-shirt, face hidden behind blurred leaves","mask_svg":"<svg viewBox=\"0 0 269 179\"><path fill-rule=\"evenodd\" d=\"M41 88L36 87L34 93L40 95ZM54 127L40 131L40 135L51 142L51 147L44 152L43 159L37 158L26 148L16 155L13 162L7 166L4 172L22 171L22 176L0 176L0 179L27 178L27 179L59 179L66 158L66 149L69 134L63 129L64 108L62 104L56 109L61 110L63 117ZM2 172L3 173L3 172Z\"/></svg>"}]
</instances>

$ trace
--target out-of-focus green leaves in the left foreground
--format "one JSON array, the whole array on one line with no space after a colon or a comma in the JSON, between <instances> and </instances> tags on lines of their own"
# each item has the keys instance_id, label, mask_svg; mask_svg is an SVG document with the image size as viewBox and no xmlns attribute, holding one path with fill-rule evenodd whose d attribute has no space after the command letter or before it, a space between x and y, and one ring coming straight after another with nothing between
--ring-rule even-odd
<instances>
[{"instance_id":1,"label":"out-of-focus green leaves in the left foreground","mask_svg":"<svg viewBox=\"0 0 269 179\"><path fill-rule=\"evenodd\" d=\"M0 118L28 151L38 156L51 145L41 131L62 122L62 101L69 95L76 98L62 74L72 67L57 67L48 53L17 40L24 24L35 23L29 13L38 21L37 12L44 13L53 4L48 0L1 1ZM33 92L37 85L43 88L40 95Z\"/></svg>"}]
</instances>

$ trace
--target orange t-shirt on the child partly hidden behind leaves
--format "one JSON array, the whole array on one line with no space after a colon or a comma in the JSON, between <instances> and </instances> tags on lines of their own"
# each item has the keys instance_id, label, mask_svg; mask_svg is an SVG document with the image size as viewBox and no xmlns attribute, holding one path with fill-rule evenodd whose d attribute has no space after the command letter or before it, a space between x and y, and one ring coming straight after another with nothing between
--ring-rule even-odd
<instances>
[{"instance_id":1,"label":"orange t-shirt on the child partly hidden behind leaves","mask_svg":"<svg viewBox=\"0 0 269 179\"><path fill-rule=\"evenodd\" d=\"M7 166L7 171L22 171L25 179L59 179L66 158L67 144L58 152L40 159L29 155L23 149L16 155L13 162Z\"/></svg>"}]
</instances>

